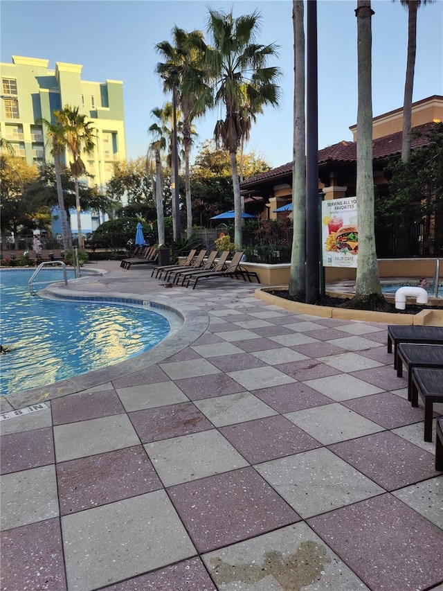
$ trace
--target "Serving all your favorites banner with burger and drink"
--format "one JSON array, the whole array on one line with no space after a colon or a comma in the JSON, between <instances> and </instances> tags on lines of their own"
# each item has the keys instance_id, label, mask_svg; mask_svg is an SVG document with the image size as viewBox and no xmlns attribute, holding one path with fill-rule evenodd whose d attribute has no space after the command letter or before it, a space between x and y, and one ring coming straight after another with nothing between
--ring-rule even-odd
<instances>
[{"instance_id":1,"label":"Serving all your favorites banner with burger and drink","mask_svg":"<svg viewBox=\"0 0 443 591\"><path fill-rule=\"evenodd\" d=\"M322 201L323 267L356 267L359 252L357 198Z\"/></svg>"}]
</instances>

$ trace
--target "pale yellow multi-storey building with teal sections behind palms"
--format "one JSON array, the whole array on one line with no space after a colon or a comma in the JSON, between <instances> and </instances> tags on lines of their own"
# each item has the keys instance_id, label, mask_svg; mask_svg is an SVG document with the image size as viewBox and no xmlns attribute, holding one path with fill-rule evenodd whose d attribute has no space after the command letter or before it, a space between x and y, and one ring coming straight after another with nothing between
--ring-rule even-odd
<instances>
[{"instance_id":1,"label":"pale yellow multi-storey building with teal sections behind palms","mask_svg":"<svg viewBox=\"0 0 443 591\"><path fill-rule=\"evenodd\" d=\"M12 55L12 63L2 62L0 134L15 150L15 155L33 161L51 162L51 144L46 128L37 125L39 118L52 120L52 113L65 105L79 107L96 130L96 148L85 157L85 177L90 186L105 187L113 175L113 164L126 159L125 113L123 109L123 82L82 80L82 65L55 62L49 69L49 60ZM65 164L69 155L65 156ZM100 212L82 213L82 232L96 229L107 219ZM77 230L75 212L71 215L73 233ZM60 220L53 222L53 233L61 230Z\"/></svg>"}]
</instances>

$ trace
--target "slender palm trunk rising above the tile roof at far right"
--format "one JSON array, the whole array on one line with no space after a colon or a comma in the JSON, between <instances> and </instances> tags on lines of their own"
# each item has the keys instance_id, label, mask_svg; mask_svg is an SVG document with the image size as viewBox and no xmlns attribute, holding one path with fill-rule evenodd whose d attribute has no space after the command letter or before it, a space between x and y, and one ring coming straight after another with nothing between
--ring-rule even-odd
<instances>
[{"instance_id":1,"label":"slender palm trunk rising above the tile roof at far right","mask_svg":"<svg viewBox=\"0 0 443 591\"><path fill-rule=\"evenodd\" d=\"M406 60L406 79L404 82L403 100L403 136L401 139L401 160L404 163L410 157L410 132L412 128L412 105L415 70L415 53L417 49L417 10L423 4L433 0L400 0L401 5L408 9L408 58Z\"/></svg>"}]
</instances>

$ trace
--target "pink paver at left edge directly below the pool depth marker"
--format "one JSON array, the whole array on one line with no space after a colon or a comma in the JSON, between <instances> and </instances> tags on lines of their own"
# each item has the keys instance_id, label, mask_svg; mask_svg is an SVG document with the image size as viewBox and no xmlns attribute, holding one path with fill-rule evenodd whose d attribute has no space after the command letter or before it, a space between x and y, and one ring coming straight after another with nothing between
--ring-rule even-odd
<instances>
[{"instance_id":1,"label":"pink paver at left edge directly below the pool depth marker","mask_svg":"<svg viewBox=\"0 0 443 591\"><path fill-rule=\"evenodd\" d=\"M1 474L53 464L55 457L52 427L2 435L0 460Z\"/></svg>"}]
</instances>

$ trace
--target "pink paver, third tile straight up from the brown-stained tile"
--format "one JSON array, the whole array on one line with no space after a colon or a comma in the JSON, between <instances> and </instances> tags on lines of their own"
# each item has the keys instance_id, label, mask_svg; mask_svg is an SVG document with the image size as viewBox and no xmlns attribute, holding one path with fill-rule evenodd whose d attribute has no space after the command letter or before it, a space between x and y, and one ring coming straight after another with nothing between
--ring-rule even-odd
<instances>
[{"instance_id":1,"label":"pink paver, third tile straight up from the brown-stained tile","mask_svg":"<svg viewBox=\"0 0 443 591\"><path fill-rule=\"evenodd\" d=\"M137 410L128 414L142 443L213 429L192 403Z\"/></svg>"}]
</instances>

